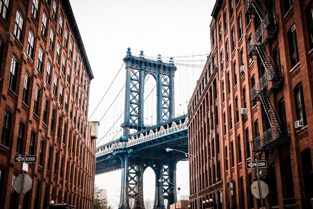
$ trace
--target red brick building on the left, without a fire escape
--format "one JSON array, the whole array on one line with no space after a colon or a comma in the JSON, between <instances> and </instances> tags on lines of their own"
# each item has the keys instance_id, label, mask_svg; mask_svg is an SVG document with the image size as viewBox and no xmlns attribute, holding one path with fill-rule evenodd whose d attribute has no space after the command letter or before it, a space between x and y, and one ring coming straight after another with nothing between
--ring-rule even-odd
<instances>
[{"instance_id":1,"label":"red brick building on the left, without a fire escape","mask_svg":"<svg viewBox=\"0 0 313 209\"><path fill-rule=\"evenodd\" d=\"M91 208L95 140L87 120L93 79L68 0L0 1L0 208L18 208L16 154L37 155L21 208L51 200Z\"/></svg>"}]
</instances>

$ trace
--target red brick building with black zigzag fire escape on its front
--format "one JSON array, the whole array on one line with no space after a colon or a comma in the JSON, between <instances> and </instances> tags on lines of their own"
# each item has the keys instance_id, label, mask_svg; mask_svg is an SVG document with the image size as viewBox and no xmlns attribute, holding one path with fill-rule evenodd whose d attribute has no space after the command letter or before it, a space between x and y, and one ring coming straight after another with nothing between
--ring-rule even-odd
<instances>
[{"instance_id":1,"label":"red brick building with black zigzag fire escape on its front","mask_svg":"<svg viewBox=\"0 0 313 209\"><path fill-rule=\"evenodd\" d=\"M211 53L188 106L189 152L198 156L198 176L193 158L189 165L192 209L196 178L200 209L259 208L257 173L245 166L255 159L268 164L259 170L269 185L264 207L311 208L312 11L310 0L216 1Z\"/></svg>"}]
</instances>

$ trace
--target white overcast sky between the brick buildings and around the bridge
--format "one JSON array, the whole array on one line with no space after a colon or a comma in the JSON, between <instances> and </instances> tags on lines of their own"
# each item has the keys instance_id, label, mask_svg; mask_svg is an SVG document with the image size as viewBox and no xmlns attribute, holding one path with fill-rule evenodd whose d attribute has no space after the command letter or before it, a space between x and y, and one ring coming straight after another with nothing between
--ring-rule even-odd
<instances>
[{"instance_id":1,"label":"white overcast sky between the brick buildings and around the bridge","mask_svg":"<svg viewBox=\"0 0 313 209\"><path fill-rule=\"evenodd\" d=\"M95 109L120 69L127 47L131 48L133 54L139 54L140 50L143 50L144 54L163 56L210 51L209 24L214 0L70 0L70 2L95 76L90 85L89 114ZM178 73L179 66L177 69ZM193 70L196 72L192 75L194 81L191 86L185 86L191 93L202 69L192 68L191 71ZM175 79L180 78L178 75L176 74ZM124 84L125 77L121 82ZM175 92L179 91L183 84L184 82L179 84L176 82ZM177 111L178 103L182 102L177 94L175 93L176 113L182 114L186 111ZM125 91L122 95L125 95ZM109 95L110 97L113 97L113 94ZM189 98L181 100L186 102ZM115 106L124 109L124 103ZM99 118L99 115L95 117ZM110 125L110 121L105 123ZM188 176L188 162L179 162L177 186L183 190L187 185L181 194L189 194ZM114 205L113 200L119 201L117 191L121 189L121 170L97 175L95 184L107 189L108 199ZM149 168L144 173L144 200L154 199L154 189L155 175ZM179 196L177 195L178 198Z\"/></svg>"}]
</instances>

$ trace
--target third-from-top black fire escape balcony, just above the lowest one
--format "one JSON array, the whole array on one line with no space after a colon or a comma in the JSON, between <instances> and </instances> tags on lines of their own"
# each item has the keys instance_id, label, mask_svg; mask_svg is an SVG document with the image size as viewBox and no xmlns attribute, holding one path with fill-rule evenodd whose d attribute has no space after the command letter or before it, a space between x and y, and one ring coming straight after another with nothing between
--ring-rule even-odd
<instances>
[{"instance_id":1,"label":"third-from-top black fire escape balcony, just above the lowest one","mask_svg":"<svg viewBox=\"0 0 313 209\"><path fill-rule=\"evenodd\" d=\"M266 92L263 92L263 90L267 88L269 82L271 81L274 81L273 85ZM260 100L260 98L258 97L259 94L268 93L269 91L278 88L283 81L284 81L283 65L279 65L277 67L271 65L271 67L264 73L260 80L251 89L251 100L259 101Z\"/></svg>"}]
</instances>

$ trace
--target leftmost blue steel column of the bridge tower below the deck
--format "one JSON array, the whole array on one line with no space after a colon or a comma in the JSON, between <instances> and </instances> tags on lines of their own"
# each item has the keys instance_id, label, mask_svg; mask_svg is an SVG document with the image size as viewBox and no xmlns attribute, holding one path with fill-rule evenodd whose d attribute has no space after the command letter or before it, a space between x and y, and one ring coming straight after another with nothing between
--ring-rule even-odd
<instances>
[{"instance_id":1,"label":"leftmost blue steel column of the bridge tower below the deck","mask_svg":"<svg viewBox=\"0 0 313 209\"><path fill-rule=\"evenodd\" d=\"M119 156L122 163L122 179L121 179L121 197L119 209L125 209L128 205L128 176L129 176L129 159L128 153Z\"/></svg>"}]
</instances>

